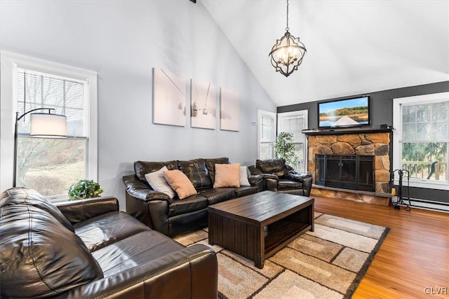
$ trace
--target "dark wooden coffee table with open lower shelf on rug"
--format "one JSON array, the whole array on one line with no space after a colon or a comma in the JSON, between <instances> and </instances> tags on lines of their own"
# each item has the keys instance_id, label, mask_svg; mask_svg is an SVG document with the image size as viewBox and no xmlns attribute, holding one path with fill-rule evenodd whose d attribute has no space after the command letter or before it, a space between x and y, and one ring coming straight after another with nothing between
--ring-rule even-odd
<instances>
[{"instance_id":1,"label":"dark wooden coffee table with open lower shelf on rug","mask_svg":"<svg viewBox=\"0 0 449 299\"><path fill-rule=\"evenodd\" d=\"M307 230L314 231L314 198L263 191L208 207L209 244L264 267L265 258Z\"/></svg>"}]
</instances>

